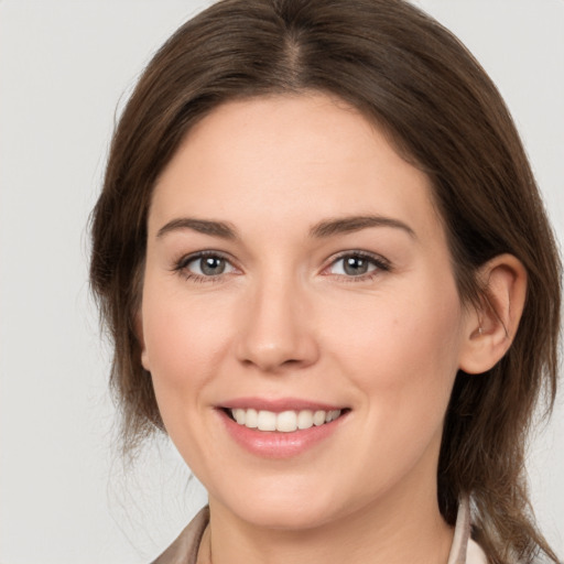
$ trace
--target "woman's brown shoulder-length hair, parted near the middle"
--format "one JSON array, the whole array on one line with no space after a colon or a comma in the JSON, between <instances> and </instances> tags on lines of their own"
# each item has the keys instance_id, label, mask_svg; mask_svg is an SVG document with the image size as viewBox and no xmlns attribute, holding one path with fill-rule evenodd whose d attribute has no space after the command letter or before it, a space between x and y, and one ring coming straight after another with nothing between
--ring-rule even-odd
<instances>
[{"instance_id":1,"label":"woman's brown shoulder-length hair, parted near the middle","mask_svg":"<svg viewBox=\"0 0 564 564\"><path fill-rule=\"evenodd\" d=\"M111 383L131 449L162 430L143 373L140 304L151 192L187 130L234 98L321 90L375 119L430 176L462 299L478 267L509 252L528 272L514 343L480 377L457 375L438 462L453 524L471 494L490 562L556 562L531 516L524 446L540 397L554 402L561 265L521 141L496 87L447 30L400 0L225 0L156 53L116 130L93 216L91 285L115 343ZM236 135L236 132L235 132Z\"/></svg>"}]
</instances>

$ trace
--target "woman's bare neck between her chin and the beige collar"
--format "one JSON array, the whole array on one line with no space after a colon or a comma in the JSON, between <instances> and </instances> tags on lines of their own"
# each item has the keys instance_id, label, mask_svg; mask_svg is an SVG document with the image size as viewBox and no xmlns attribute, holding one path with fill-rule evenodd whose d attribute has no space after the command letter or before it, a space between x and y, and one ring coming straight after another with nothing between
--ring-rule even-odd
<instances>
[{"instance_id":1,"label":"woman's bare neck between her chin and the beige collar","mask_svg":"<svg viewBox=\"0 0 564 564\"><path fill-rule=\"evenodd\" d=\"M434 485L415 492L403 488L307 530L249 523L210 499L204 551L213 564L446 564L453 530L441 517L436 499Z\"/></svg>"}]
</instances>

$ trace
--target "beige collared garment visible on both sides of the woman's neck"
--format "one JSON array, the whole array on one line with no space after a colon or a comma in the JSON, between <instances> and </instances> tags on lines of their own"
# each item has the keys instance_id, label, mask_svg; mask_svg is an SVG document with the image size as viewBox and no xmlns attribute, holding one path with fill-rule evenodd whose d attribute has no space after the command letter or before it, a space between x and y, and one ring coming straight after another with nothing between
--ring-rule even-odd
<instances>
[{"instance_id":1,"label":"beige collared garment visible on both sides of the woman's neck","mask_svg":"<svg viewBox=\"0 0 564 564\"><path fill-rule=\"evenodd\" d=\"M182 531L180 536L152 564L196 564L199 543L209 522L205 507ZM453 546L447 564L487 564L479 545L470 539L470 505L464 498L458 506Z\"/></svg>"}]
</instances>

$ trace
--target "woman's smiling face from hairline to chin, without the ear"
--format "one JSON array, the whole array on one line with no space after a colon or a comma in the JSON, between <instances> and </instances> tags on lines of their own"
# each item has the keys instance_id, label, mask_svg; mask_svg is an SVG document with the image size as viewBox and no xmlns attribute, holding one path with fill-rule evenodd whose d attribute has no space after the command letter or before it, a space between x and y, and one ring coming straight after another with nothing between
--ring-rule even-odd
<instances>
[{"instance_id":1,"label":"woman's smiling face from hairline to chin, without the ear","mask_svg":"<svg viewBox=\"0 0 564 564\"><path fill-rule=\"evenodd\" d=\"M436 503L469 322L429 180L381 131L323 95L225 104L148 237L142 361L213 509L293 529Z\"/></svg>"}]
</instances>

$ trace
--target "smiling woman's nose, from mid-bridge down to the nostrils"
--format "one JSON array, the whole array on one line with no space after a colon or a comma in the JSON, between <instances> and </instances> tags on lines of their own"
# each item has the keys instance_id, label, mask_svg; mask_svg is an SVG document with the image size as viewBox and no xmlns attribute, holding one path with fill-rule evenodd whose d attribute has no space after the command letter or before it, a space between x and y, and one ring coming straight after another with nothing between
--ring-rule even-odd
<instances>
[{"instance_id":1,"label":"smiling woman's nose, from mid-bridge down to the nostrils","mask_svg":"<svg viewBox=\"0 0 564 564\"><path fill-rule=\"evenodd\" d=\"M263 281L242 308L237 339L240 362L275 373L317 360L319 348L304 289L281 280Z\"/></svg>"}]
</instances>

